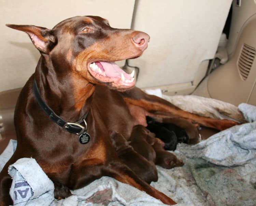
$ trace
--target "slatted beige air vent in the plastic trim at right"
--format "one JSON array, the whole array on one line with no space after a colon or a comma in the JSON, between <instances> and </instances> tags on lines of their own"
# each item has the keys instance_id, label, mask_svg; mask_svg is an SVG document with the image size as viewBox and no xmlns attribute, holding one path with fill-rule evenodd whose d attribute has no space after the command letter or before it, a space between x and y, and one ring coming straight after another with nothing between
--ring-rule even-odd
<instances>
[{"instance_id":1,"label":"slatted beige air vent in the plastic trim at right","mask_svg":"<svg viewBox=\"0 0 256 206\"><path fill-rule=\"evenodd\" d=\"M243 80L246 80L252 68L253 60L255 58L255 48L244 44L238 59L238 70Z\"/></svg>"}]
</instances>

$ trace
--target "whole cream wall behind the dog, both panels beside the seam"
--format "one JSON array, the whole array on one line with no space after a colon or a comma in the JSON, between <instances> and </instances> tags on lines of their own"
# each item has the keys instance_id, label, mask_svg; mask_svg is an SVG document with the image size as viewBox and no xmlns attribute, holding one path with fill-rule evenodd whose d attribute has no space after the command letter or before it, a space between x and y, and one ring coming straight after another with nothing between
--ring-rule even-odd
<instances>
[{"instance_id":1,"label":"whole cream wall behind the dog, both panels beside the seam","mask_svg":"<svg viewBox=\"0 0 256 206\"><path fill-rule=\"evenodd\" d=\"M129 60L140 68L137 86L169 85L175 93L190 93L196 86L191 82L199 82L206 72L207 64L201 62L215 54L230 4L231 0L1 0L0 92L22 87L39 59L29 37L6 23L52 28L72 16L98 15L116 28L130 28L133 16L133 29L151 36L142 57Z\"/></svg>"}]
</instances>

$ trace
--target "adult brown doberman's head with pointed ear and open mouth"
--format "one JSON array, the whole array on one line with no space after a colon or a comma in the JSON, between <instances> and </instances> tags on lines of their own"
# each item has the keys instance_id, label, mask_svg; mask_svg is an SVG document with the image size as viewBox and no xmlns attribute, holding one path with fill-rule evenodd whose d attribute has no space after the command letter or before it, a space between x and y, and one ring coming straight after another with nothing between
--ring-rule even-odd
<instances>
[{"instance_id":1,"label":"adult brown doberman's head with pointed ear and open mouth","mask_svg":"<svg viewBox=\"0 0 256 206\"><path fill-rule=\"evenodd\" d=\"M134 73L125 73L114 62L141 56L150 39L144 32L112 28L108 20L98 16L72 17L53 29L6 26L26 32L56 72L73 72L88 82L120 91L134 86Z\"/></svg>"}]
</instances>

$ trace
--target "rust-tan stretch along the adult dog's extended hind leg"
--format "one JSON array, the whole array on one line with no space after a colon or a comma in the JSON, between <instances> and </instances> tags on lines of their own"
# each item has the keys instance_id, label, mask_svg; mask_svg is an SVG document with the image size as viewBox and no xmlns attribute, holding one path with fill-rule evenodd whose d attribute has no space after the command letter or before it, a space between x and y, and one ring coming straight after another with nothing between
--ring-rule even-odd
<instances>
[{"instance_id":1,"label":"rust-tan stretch along the adult dog's extended hind leg","mask_svg":"<svg viewBox=\"0 0 256 206\"><path fill-rule=\"evenodd\" d=\"M200 125L216 128L220 131L227 129L231 126L237 125L238 123L231 121L231 120L214 120L209 117L198 116L196 114L191 114L186 111L183 111L179 108L169 107L168 105L161 104L160 102L151 102L145 99L131 99L131 98L124 98L124 100L129 103L133 104L142 108L145 108L147 111L163 111L171 113L172 115L176 115L177 117L182 117L185 119L193 120ZM219 124L219 122L222 124Z\"/></svg>"}]
</instances>

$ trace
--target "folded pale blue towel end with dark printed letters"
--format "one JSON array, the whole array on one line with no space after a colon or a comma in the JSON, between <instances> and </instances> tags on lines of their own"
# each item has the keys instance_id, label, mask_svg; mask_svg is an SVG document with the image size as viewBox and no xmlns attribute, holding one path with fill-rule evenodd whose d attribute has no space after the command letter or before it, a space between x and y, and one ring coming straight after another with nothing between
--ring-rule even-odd
<instances>
[{"instance_id":1,"label":"folded pale blue towel end with dark printed letters","mask_svg":"<svg viewBox=\"0 0 256 206\"><path fill-rule=\"evenodd\" d=\"M54 184L32 158L18 159L10 165L10 195L14 205L50 205L54 200Z\"/></svg>"}]
</instances>

